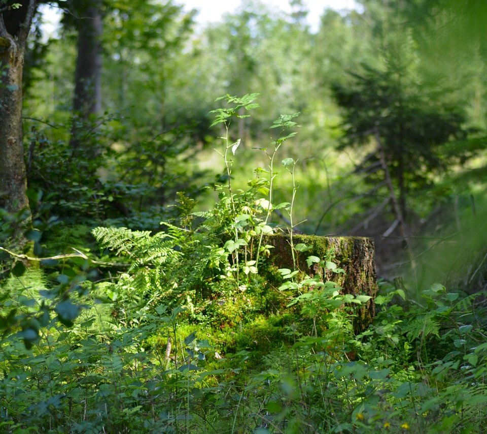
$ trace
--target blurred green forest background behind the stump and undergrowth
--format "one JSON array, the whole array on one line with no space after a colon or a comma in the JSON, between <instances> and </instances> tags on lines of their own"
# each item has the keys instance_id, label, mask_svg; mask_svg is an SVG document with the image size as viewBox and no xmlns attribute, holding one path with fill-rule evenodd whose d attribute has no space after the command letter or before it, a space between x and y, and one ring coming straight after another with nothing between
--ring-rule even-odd
<instances>
[{"instance_id":1,"label":"blurred green forest background behind the stump and undergrowth","mask_svg":"<svg viewBox=\"0 0 487 434\"><path fill-rule=\"evenodd\" d=\"M483 2L365 0L325 10L316 29L299 0L292 13L245 2L204 25L178 2L48 3L60 26L43 31L41 5L23 78L38 255L94 226L155 230L178 191L206 209L224 172L208 112L259 92L231 126L234 185L266 164L252 148L272 120L301 112L283 154L298 160L299 230L373 236L378 275L412 264L413 287L485 288ZM276 189L289 200L290 177Z\"/></svg>"}]
</instances>

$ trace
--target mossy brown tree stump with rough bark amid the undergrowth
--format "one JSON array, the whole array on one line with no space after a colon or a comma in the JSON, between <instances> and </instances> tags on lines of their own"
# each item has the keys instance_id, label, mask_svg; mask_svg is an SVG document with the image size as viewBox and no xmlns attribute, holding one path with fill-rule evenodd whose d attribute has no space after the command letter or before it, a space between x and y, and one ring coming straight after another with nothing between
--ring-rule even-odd
<instances>
[{"instance_id":1,"label":"mossy brown tree stump with rough bark amid the undergrowth","mask_svg":"<svg viewBox=\"0 0 487 434\"><path fill-rule=\"evenodd\" d=\"M354 320L354 328L361 331L372 322L375 313L374 298L377 295L377 278L374 263L374 241L365 237L321 237L314 235L293 235L294 245L303 243L310 247L305 252L298 252L297 266L311 276L319 274L325 281L333 281L341 288L342 294L365 294L372 297L358 309L358 317ZM278 268L293 268L289 235L268 235L263 244L272 245L271 263ZM343 268L344 274L325 271L318 264L306 265L310 255L324 259L334 250L333 262Z\"/></svg>"}]
</instances>

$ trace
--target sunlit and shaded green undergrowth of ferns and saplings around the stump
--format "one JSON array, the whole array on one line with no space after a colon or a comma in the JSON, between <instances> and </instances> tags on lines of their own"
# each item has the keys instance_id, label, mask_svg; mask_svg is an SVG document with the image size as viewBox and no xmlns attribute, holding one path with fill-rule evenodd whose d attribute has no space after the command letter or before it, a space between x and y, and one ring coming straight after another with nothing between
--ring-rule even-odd
<instances>
[{"instance_id":1,"label":"sunlit and shaded green undergrowth of ferns and saplings around the stump","mask_svg":"<svg viewBox=\"0 0 487 434\"><path fill-rule=\"evenodd\" d=\"M97 260L13 265L0 287L2 432L482 432L479 294L435 284L412 299L382 282L374 321L356 331L371 297L342 294L333 252L307 261L331 280L266 261L272 213L297 226L296 183L272 203L296 115L274 122L269 166L234 191L229 126L255 98L215 112L226 176L213 209L180 194L179 217L157 231L94 229ZM294 160L282 165L294 179Z\"/></svg>"}]
</instances>

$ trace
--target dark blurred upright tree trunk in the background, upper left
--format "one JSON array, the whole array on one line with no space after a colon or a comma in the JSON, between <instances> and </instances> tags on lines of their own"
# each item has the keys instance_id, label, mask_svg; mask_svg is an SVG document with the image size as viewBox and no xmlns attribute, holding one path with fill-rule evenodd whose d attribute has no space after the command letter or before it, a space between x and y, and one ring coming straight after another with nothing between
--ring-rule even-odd
<instances>
[{"instance_id":1,"label":"dark blurred upright tree trunk in the background, upper left","mask_svg":"<svg viewBox=\"0 0 487 434\"><path fill-rule=\"evenodd\" d=\"M83 0L75 3L78 29L78 56L73 97L71 145L83 141L86 122L101 112L101 1ZM96 150L94 150L96 153Z\"/></svg>"}]
</instances>

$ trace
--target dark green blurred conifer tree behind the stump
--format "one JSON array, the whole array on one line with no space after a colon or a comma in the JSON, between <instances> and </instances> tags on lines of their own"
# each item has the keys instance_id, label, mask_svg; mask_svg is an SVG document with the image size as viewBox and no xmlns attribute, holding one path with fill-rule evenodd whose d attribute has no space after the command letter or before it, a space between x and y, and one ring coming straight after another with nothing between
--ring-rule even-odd
<instances>
[{"instance_id":1,"label":"dark green blurred conifer tree behind the stump","mask_svg":"<svg viewBox=\"0 0 487 434\"><path fill-rule=\"evenodd\" d=\"M438 171L464 158L463 149L449 159L441 152L443 144L465 137L464 116L457 107L431 103L427 84L416 82L412 73L404 77L407 66L390 61L386 71L367 66L363 70L353 74L353 87L333 87L344 109L342 146L375 142L356 170L367 173L369 182L387 181L384 159L404 211L414 191L431 185Z\"/></svg>"}]
</instances>

